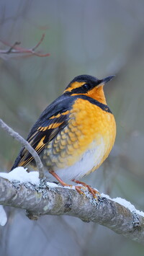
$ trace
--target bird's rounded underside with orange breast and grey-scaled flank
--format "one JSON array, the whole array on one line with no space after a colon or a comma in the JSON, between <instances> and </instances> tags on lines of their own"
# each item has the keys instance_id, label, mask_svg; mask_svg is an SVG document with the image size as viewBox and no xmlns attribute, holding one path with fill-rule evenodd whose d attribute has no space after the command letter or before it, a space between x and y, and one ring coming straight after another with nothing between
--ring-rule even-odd
<instances>
[{"instance_id":1,"label":"bird's rounded underside with orange breast and grey-scaled flank","mask_svg":"<svg viewBox=\"0 0 144 256\"><path fill-rule=\"evenodd\" d=\"M78 98L70 110L68 125L48 144L43 159L58 174L63 169L64 174L71 170L79 172L78 176L84 176L97 169L107 158L114 144L115 134L116 125L112 113ZM99 159L92 157L96 150L100 152ZM87 156L86 152L91 156L92 163L90 161L86 168L84 166L80 169L76 163L83 161ZM74 167L75 171L70 167Z\"/></svg>"}]
</instances>

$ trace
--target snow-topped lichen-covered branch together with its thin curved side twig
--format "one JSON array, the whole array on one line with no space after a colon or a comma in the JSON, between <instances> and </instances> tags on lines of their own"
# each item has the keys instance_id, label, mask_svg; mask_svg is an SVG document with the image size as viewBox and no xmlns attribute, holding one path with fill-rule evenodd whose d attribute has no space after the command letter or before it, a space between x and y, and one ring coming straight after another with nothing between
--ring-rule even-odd
<instances>
[{"instance_id":1,"label":"snow-topped lichen-covered branch together with its thin curved side twig","mask_svg":"<svg viewBox=\"0 0 144 256\"><path fill-rule=\"evenodd\" d=\"M96 199L86 189L80 195L74 186L61 187L55 183L40 180L43 177L42 162L34 149L12 128L0 119L0 126L16 138L34 156L38 172L27 172L17 167L12 172L0 173L0 204L27 211L30 219L41 215L69 215L82 221L94 221L107 226L117 234L122 234L144 244L144 213L135 209L122 198L109 198L101 194ZM39 168L40 167L40 168ZM0 206L0 224L6 223L6 214Z\"/></svg>"}]
</instances>

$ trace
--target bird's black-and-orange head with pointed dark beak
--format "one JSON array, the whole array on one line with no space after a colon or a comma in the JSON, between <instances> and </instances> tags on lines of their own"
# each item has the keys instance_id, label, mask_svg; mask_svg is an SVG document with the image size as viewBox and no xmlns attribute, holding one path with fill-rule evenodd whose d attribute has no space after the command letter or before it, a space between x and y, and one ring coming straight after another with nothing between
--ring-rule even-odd
<instances>
[{"instance_id":1,"label":"bird's black-and-orange head with pointed dark beak","mask_svg":"<svg viewBox=\"0 0 144 256\"><path fill-rule=\"evenodd\" d=\"M71 83L68 84L64 93L71 96L84 94L106 104L103 87L104 84L112 80L113 77L114 76L107 76L104 79L97 79L89 75L76 76Z\"/></svg>"}]
</instances>

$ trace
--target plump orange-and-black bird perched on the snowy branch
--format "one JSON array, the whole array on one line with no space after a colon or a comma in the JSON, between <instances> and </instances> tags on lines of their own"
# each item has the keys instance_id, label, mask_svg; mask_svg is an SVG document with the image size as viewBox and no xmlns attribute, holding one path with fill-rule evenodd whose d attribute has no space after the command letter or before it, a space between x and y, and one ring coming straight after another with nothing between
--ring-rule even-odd
<instances>
[{"instance_id":1,"label":"plump orange-and-black bird perched on the snowy branch","mask_svg":"<svg viewBox=\"0 0 144 256\"><path fill-rule=\"evenodd\" d=\"M39 154L49 181L71 186L66 181L72 180L78 183L78 193L88 187L96 197L97 190L78 179L98 169L114 145L116 123L104 95L104 84L113 78L76 76L32 126L27 141ZM35 169L35 159L22 147L12 169L27 166Z\"/></svg>"}]
</instances>

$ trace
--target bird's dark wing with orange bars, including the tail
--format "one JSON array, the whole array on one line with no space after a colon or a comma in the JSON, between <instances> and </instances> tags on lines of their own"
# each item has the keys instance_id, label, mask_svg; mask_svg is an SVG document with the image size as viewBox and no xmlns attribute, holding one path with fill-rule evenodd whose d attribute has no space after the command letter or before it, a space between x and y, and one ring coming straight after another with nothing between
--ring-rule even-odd
<instances>
[{"instance_id":1,"label":"bird's dark wing with orange bars, including the tail","mask_svg":"<svg viewBox=\"0 0 144 256\"><path fill-rule=\"evenodd\" d=\"M48 144L53 138L68 124L69 111L73 104L74 97L61 97L49 105L44 112L40 115L35 125L32 127L27 141L30 143L33 149L37 151L37 154L45 149L45 145ZM12 169L32 162L33 156L22 148L14 162Z\"/></svg>"}]
</instances>

